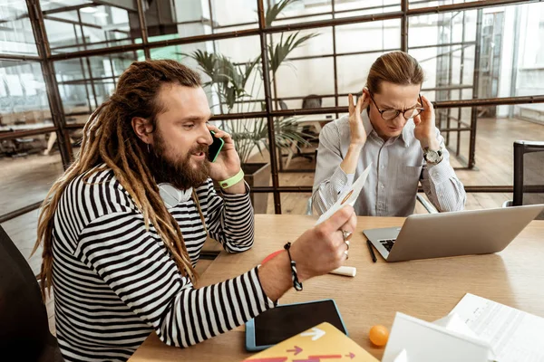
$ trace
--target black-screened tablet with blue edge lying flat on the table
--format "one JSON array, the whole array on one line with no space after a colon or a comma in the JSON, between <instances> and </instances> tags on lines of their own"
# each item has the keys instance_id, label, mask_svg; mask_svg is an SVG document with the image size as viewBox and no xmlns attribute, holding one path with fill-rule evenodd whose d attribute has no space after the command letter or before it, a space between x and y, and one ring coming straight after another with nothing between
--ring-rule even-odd
<instances>
[{"instance_id":1,"label":"black-screened tablet with blue edge lying flat on the table","mask_svg":"<svg viewBox=\"0 0 544 362\"><path fill-rule=\"evenodd\" d=\"M246 349L258 351L272 347L323 322L332 324L347 336L335 300L278 305L246 323Z\"/></svg>"}]
</instances>

